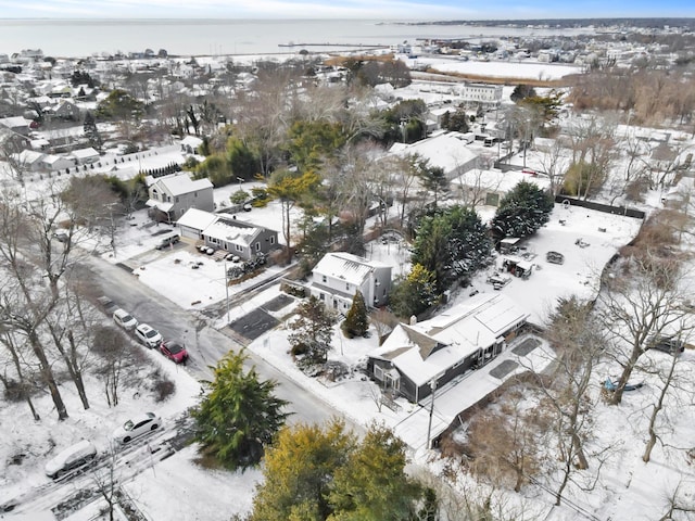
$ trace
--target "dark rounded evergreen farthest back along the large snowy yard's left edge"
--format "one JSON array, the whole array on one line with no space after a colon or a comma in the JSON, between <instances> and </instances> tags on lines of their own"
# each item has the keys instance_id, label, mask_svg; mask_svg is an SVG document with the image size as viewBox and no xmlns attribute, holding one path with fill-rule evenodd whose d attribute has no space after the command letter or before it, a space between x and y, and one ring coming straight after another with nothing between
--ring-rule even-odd
<instances>
[{"instance_id":1,"label":"dark rounded evergreen farthest back along the large snowy yard's left edge","mask_svg":"<svg viewBox=\"0 0 695 521\"><path fill-rule=\"evenodd\" d=\"M532 182L519 182L501 201L492 219L496 240L505 237L528 237L549 220L553 196Z\"/></svg>"}]
</instances>

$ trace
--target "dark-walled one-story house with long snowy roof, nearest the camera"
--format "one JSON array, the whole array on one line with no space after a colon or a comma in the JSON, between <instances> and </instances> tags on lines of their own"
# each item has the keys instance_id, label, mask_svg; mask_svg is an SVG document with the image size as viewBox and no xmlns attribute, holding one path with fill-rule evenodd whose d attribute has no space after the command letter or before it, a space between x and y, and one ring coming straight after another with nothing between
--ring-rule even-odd
<instances>
[{"instance_id":1,"label":"dark-walled one-story house with long snowy roof, nearest the camera","mask_svg":"<svg viewBox=\"0 0 695 521\"><path fill-rule=\"evenodd\" d=\"M400 323L375 353L367 372L384 390L421 402L466 371L502 353L529 314L503 293L479 293L419 323Z\"/></svg>"}]
</instances>

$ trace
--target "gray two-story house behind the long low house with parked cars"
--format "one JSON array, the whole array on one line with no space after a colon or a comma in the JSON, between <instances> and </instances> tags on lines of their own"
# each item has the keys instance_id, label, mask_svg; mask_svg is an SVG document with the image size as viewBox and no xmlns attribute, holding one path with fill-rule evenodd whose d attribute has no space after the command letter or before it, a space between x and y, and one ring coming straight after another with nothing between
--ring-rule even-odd
<instances>
[{"instance_id":1,"label":"gray two-story house behind the long low house with parked cars","mask_svg":"<svg viewBox=\"0 0 695 521\"><path fill-rule=\"evenodd\" d=\"M190 208L215 209L210 179L191 179L187 171L146 179L150 199L146 203L154 220L174 223Z\"/></svg>"}]
</instances>

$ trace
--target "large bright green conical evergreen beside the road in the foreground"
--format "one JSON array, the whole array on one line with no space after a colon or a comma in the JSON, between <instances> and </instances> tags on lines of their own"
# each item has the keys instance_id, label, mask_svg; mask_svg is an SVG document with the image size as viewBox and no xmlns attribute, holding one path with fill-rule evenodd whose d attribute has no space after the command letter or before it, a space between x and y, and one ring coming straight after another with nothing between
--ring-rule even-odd
<instances>
[{"instance_id":1,"label":"large bright green conical evergreen beside the road in the foreground","mask_svg":"<svg viewBox=\"0 0 695 521\"><path fill-rule=\"evenodd\" d=\"M201 452L230 469L258 463L289 416L281 410L287 402L273 394L277 383L260 381L255 368L244 371L247 358L243 351L225 355L214 381L203 382L208 393L192 412Z\"/></svg>"}]
</instances>

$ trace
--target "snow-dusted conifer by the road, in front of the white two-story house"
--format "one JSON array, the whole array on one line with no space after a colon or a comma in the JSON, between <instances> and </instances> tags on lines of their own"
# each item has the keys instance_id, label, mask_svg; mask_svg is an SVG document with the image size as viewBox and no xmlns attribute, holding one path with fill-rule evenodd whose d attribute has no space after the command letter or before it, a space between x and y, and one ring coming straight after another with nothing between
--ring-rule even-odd
<instances>
[{"instance_id":1,"label":"snow-dusted conifer by the road, in front of the white two-story house","mask_svg":"<svg viewBox=\"0 0 695 521\"><path fill-rule=\"evenodd\" d=\"M298 318L288 335L293 355L306 355L307 361L326 361L333 338L333 317L314 295L296 308Z\"/></svg>"}]
</instances>

